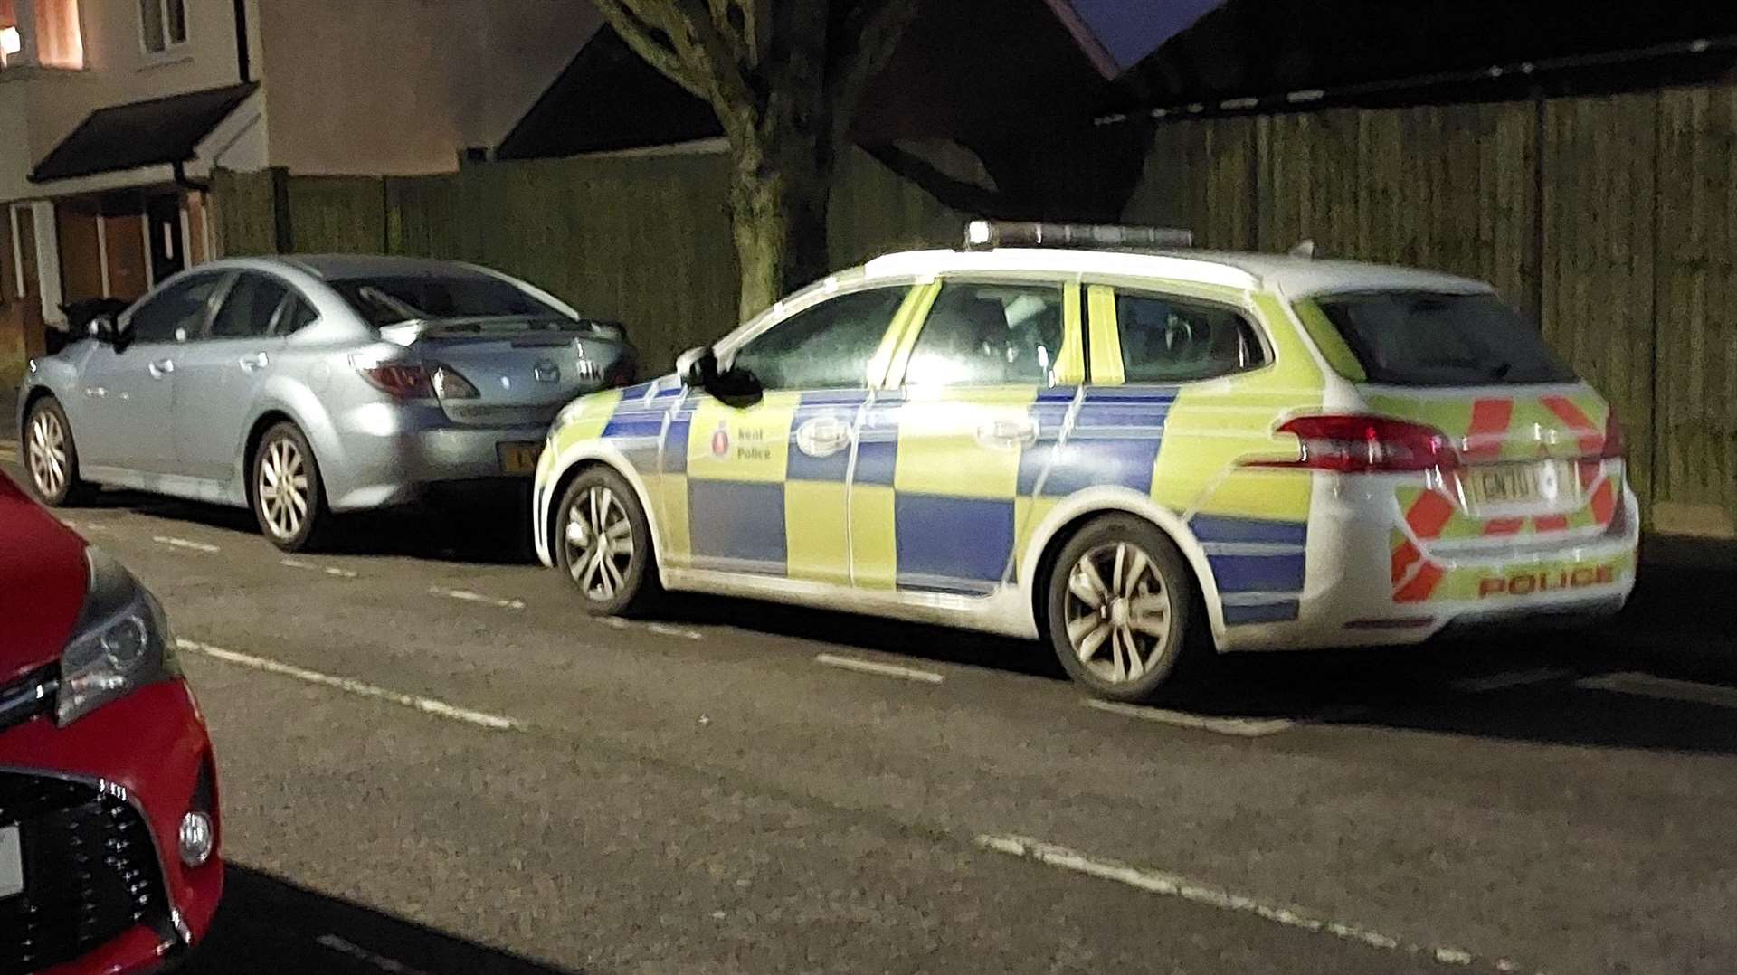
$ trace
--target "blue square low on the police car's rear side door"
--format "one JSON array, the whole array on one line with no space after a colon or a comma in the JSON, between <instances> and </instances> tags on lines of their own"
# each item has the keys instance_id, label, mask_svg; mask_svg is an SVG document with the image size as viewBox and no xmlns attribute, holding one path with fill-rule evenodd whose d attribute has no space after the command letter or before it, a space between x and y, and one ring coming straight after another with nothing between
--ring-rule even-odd
<instances>
[{"instance_id":1,"label":"blue square low on the police car's rear side door","mask_svg":"<svg viewBox=\"0 0 1737 975\"><path fill-rule=\"evenodd\" d=\"M919 589L954 589L940 580L995 584L1007 570L1013 499L902 492L893 499L893 521L902 587L907 575L922 577L908 586Z\"/></svg>"}]
</instances>

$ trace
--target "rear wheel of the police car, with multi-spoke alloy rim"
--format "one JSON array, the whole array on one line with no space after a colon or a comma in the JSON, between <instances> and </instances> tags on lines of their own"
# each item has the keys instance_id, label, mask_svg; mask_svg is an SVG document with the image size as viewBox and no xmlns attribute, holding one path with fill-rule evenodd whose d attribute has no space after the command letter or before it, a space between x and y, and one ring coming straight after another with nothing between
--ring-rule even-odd
<instances>
[{"instance_id":1,"label":"rear wheel of the police car, with multi-spoke alloy rim","mask_svg":"<svg viewBox=\"0 0 1737 975\"><path fill-rule=\"evenodd\" d=\"M1047 586L1056 657L1098 697L1150 700L1199 650L1193 575L1148 521L1087 523L1061 547Z\"/></svg>"}]
</instances>

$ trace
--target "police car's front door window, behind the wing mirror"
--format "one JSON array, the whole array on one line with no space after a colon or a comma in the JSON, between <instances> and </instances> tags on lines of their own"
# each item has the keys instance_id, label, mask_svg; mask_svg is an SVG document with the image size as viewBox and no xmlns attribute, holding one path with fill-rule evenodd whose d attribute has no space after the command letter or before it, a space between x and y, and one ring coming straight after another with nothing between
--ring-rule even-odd
<instances>
[{"instance_id":1,"label":"police car's front door window, behind the wing mirror","mask_svg":"<svg viewBox=\"0 0 1737 975\"><path fill-rule=\"evenodd\" d=\"M761 332L736 351L766 389L862 389L868 360L893 325L907 285L868 289L823 301Z\"/></svg>"}]
</instances>

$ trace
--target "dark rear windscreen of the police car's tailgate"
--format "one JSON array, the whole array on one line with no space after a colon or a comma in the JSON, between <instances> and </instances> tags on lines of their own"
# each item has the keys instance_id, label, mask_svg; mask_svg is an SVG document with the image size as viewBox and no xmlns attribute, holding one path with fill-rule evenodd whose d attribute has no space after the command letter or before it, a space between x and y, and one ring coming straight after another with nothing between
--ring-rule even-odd
<instances>
[{"instance_id":1,"label":"dark rear windscreen of the police car's tailgate","mask_svg":"<svg viewBox=\"0 0 1737 975\"><path fill-rule=\"evenodd\" d=\"M1317 299L1370 382L1572 382L1537 328L1492 294L1364 292Z\"/></svg>"}]
</instances>

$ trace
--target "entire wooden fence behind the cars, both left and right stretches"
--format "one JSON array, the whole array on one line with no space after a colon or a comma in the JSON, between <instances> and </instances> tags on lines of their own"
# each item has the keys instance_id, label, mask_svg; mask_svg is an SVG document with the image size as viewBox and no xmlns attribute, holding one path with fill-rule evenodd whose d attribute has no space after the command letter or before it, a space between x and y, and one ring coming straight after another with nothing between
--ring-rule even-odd
<instances>
[{"instance_id":1,"label":"entire wooden fence behind the cars, both left and right stretches","mask_svg":"<svg viewBox=\"0 0 1737 975\"><path fill-rule=\"evenodd\" d=\"M1126 209L1205 247L1485 278L1615 405L1647 523L1737 535L1737 89L1159 129ZM651 368L735 323L721 155L471 165L408 179L217 177L228 254L478 261L627 322ZM966 221L865 153L832 196L832 257L952 245Z\"/></svg>"}]
</instances>

